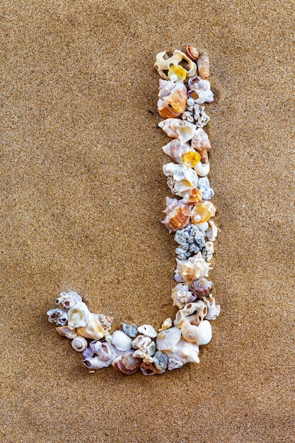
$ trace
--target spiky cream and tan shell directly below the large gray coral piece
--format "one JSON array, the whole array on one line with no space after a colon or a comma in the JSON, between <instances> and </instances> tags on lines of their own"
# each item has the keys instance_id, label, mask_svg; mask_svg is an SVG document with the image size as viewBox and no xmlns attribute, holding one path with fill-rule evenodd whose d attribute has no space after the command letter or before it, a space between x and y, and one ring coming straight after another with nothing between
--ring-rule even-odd
<instances>
[{"instance_id":1,"label":"spiky cream and tan shell directly below the large gray coral piece","mask_svg":"<svg viewBox=\"0 0 295 443\"><path fill-rule=\"evenodd\" d=\"M177 268L176 274L180 274L183 277L183 281L190 287L193 280L197 280L201 277L208 277L208 272L212 267L204 260L202 253L197 253L193 257L187 260L179 260L176 258Z\"/></svg>"}]
</instances>

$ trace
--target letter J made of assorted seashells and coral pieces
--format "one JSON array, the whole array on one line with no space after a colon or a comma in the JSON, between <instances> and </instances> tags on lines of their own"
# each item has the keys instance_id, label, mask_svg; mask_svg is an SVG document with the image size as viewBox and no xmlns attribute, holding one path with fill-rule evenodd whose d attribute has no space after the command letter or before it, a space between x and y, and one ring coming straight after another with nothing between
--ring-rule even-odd
<instances>
[{"instance_id":1,"label":"letter J made of assorted seashells and coral pieces","mask_svg":"<svg viewBox=\"0 0 295 443\"><path fill-rule=\"evenodd\" d=\"M203 129L210 120L203 104L213 101L209 59L187 45L170 57L160 52L155 67L161 76L158 112L165 119L158 126L172 139L163 146L173 161L163 166L173 197L166 197L162 223L178 243L178 284L171 293L178 311L174 321L166 318L158 330L123 322L122 329L112 332L111 316L89 311L76 292L62 292L54 309L47 311L48 321L81 352L90 372L112 366L120 374L140 370L156 375L199 363L199 346L211 340L210 321L220 313L211 293L213 283L207 280L217 235L212 221L216 209L210 201L214 192L207 178L211 145Z\"/></svg>"}]
</instances>

